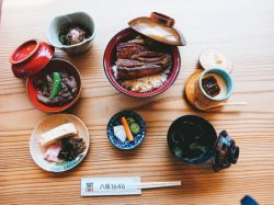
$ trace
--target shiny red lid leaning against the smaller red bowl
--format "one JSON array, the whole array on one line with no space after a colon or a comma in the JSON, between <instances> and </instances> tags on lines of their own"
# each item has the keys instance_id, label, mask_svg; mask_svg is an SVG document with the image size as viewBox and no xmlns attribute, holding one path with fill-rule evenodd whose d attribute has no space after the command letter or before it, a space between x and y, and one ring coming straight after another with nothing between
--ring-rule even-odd
<instances>
[{"instance_id":1,"label":"shiny red lid leaning against the smaller red bowl","mask_svg":"<svg viewBox=\"0 0 274 205\"><path fill-rule=\"evenodd\" d=\"M38 39L20 45L10 56L11 69L16 78L28 78L44 69L54 55L54 47Z\"/></svg>"}]
</instances>

